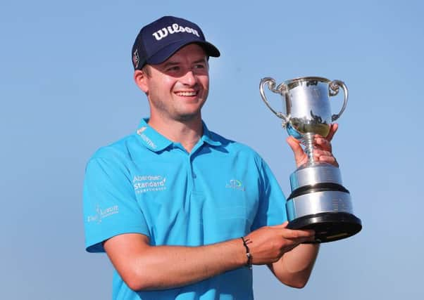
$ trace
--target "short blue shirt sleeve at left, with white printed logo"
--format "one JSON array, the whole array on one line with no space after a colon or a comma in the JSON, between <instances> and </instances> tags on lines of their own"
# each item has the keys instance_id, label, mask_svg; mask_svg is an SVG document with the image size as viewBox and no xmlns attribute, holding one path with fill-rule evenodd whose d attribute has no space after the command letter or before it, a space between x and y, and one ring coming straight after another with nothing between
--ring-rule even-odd
<instances>
[{"instance_id":1,"label":"short blue shirt sleeve at left, with white printed logo","mask_svg":"<svg viewBox=\"0 0 424 300\"><path fill-rule=\"evenodd\" d=\"M149 236L137 204L130 171L119 159L92 158L85 170L83 190L85 247L104 252L103 242L123 233Z\"/></svg>"}]
</instances>

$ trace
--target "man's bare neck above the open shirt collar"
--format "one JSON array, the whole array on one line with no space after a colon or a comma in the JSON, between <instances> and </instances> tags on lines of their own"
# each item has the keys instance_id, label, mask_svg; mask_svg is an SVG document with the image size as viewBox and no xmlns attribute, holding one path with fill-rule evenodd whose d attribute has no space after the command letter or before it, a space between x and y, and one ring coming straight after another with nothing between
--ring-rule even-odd
<instances>
[{"instance_id":1,"label":"man's bare neck above the open shirt collar","mask_svg":"<svg viewBox=\"0 0 424 300\"><path fill-rule=\"evenodd\" d=\"M187 152L192 152L203 134L201 117L189 121L176 121L151 117L149 126L168 138L170 141L180 143Z\"/></svg>"}]
</instances>

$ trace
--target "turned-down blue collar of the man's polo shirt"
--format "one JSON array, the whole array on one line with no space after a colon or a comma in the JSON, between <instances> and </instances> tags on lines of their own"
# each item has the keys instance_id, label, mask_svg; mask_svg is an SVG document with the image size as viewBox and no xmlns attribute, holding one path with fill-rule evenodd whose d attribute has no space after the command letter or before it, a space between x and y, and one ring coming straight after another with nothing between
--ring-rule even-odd
<instances>
[{"instance_id":1,"label":"turned-down blue collar of the man's polo shirt","mask_svg":"<svg viewBox=\"0 0 424 300\"><path fill-rule=\"evenodd\" d=\"M158 131L153 129L149 124L147 124L147 122L149 122L149 118L142 119L136 131L137 135L140 137L140 140L146 148L154 152L159 152L173 144L173 141L170 141L165 136L162 136L161 133L158 133ZM204 122L202 122L202 124L203 136L201 136L201 141L208 143L209 145L220 146L220 141L213 138L211 132L208 130L208 127Z\"/></svg>"}]
</instances>

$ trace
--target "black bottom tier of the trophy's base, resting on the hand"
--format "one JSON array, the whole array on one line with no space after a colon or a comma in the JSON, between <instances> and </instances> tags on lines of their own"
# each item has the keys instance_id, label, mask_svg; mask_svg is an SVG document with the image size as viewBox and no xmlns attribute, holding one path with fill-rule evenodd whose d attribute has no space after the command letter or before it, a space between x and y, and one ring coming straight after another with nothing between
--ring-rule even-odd
<instances>
[{"instance_id":1,"label":"black bottom tier of the trophy's base, resting on the hand","mask_svg":"<svg viewBox=\"0 0 424 300\"><path fill-rule=\"evenodd\" d=\"M308 244L318 244L323 242L333 242L342 240L352 235L356 235L362 229L361 220L353 214L344 212L324 212L301 216L289 221L289 229L313 229L315 230L315 240L306 242Z\"/></svg>"}]
</instances>

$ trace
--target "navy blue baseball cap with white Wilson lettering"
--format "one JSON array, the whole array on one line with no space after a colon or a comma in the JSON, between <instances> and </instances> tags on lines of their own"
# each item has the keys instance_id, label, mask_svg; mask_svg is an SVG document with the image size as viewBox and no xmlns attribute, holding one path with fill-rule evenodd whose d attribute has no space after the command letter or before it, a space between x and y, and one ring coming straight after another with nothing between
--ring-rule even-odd
<instances>
[{"instance_id":1,"label":"navy blue baseball cap with white Wilson lettering","mask_svg":"<svg viewBox=\"0 0 424 300\"><path fill-rule=\"evenodd\" d=\"M132 65L141 70L144 65L163 63L180 48L199 44L207 56L219 57L216 46L206 41L200 27L182 18L162 17L140 30L132 46Z\"/></svg>"}]
</instances>

